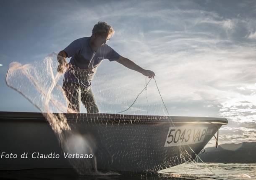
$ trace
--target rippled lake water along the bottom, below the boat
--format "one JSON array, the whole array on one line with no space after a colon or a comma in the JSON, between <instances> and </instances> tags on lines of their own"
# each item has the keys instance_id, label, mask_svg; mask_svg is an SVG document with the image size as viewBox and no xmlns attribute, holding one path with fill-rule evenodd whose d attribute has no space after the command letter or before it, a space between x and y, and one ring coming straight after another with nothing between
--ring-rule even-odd
<instances>
[{"instance_id":1,"label":"rippled lake water along the bottom, below the boat","mask_svg":"<svg viewBox=\"0 0 256 180\"><path fill-rule=\"evenodd\" d=\"M207 167L206 167L207 166ZM212 172L211 172L212 171ZM193 163L162 170L158 175L81 176L70 169L0 171L0 179L44 180L256 180L253 163Z\"/></svg>"}]
</instances>

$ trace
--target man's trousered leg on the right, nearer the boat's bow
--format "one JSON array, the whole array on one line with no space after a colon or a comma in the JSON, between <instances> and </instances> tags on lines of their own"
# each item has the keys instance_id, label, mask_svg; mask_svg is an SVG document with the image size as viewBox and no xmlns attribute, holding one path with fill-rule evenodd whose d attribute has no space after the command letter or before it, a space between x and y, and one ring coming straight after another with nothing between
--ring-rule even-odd
<instances>
[{"instance_id":1,"label":"man's trousered leg on the right, nearer the boat's bow","mask_svg":"<svg viewBox=\"0 0 256 180\"><path fill-rule=\"evenodd\" d=\"M94 95L90 89L81 88L81 101L84 104L87 113L99 113L98 106L95 103Z\"/></svg>"}]
</instances>

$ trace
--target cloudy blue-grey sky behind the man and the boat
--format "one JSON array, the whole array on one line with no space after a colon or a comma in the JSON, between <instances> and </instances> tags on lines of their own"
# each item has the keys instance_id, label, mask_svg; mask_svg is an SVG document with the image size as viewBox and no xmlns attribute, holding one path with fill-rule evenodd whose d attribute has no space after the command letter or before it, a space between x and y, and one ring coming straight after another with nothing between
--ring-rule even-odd
<instances>
[{"instance_id":1,"label":"cloudy blue-grey sky behind the man and the boat","mask_svg":"<svg viewBox=\"0 0 256 180\"><path fill-rule=\"evenodd\" d=\"M256 142L254 0L2 0L0 111L39 112L6 86L11 62L40 64L98 21L115 30L109 46L154 71L170 115L225 117L219 144ZM144 86L143 75L104 60L92 89L100 112L115 113ZM167 115L154 81L126 114Z\"/></svg>"}]
</instances>

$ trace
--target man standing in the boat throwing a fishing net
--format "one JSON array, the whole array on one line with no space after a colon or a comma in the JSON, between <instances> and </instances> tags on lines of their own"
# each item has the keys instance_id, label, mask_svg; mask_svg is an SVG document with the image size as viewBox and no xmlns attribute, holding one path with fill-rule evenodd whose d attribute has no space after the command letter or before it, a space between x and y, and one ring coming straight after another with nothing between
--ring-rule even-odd
<instances>
[{"instance_id":1,"label":"man standing in the boat throwing a fishing net","mask_svg":"<svg viewBox=\"0 0 256 180\"><path fill-rule=\"evenodd\" d=\"M128 58L120 56L106 44L113 33L110 25L98 22L92 29L91 37L77 39L58 53L58 72L65 72L63 90L68 99L68 113L80 112L80 100L88 113L99 113L91 91L91 81L103 59L117 61L144 76L154 78L153 71L143 69ZM71 57L69 63L65 60L67 57Z\"/></svg>"}]
</instances>

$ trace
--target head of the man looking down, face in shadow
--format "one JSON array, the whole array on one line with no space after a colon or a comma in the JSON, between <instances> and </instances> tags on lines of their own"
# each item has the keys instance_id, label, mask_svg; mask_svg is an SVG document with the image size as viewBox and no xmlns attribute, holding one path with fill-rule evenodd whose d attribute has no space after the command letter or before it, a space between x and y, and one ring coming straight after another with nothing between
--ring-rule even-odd
<instances>
[{"instance_id":1,"label":"head of the man looking down, face in shadow","mask_svg":"<svg viewBox=\"0 0 256 180\"><path fill-rule=\"evenodd\" d=\"M92 29L92 41L95 46L103 46L115 33L111 25L106 22L98 22Z\"/></svg>"}]
</instances>

